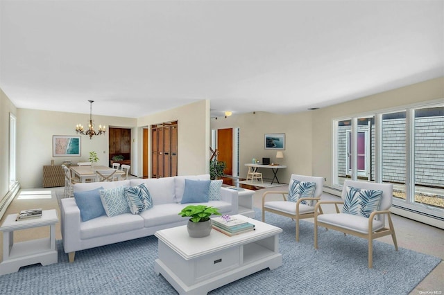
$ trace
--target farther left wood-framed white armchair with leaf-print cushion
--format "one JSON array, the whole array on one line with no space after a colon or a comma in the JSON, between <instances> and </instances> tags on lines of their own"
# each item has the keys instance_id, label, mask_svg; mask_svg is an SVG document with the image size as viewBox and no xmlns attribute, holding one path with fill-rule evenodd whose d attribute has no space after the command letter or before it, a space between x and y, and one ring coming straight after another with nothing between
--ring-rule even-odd
<instances>
[{"instance_id":1,"label":"farther left wood-framed white armchair with leaf-print cushion","mask_svg":"<svg viewBox=\"0 0 444 295\"><path fill-rule=\"evenodd\" d=\"M314 217L314 206L321 199L323 181L323 177L293 174L289 190L265 192L262 195L262 222L265 222L266 211L290 217L296 221L296 241L299 241L299 220ZM266 201L272 195L282 195L282 201Z\"/></svg>"}]
</instances>

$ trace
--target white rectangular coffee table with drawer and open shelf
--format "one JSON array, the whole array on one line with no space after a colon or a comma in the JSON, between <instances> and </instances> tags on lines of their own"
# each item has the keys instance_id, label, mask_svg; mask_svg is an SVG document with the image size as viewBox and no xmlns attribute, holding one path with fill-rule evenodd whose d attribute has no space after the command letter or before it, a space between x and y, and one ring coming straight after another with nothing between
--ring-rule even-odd
<instances>
[{"instance_id":1,"label":"white rectangular coffee table with drawer and open shelf","mask_svg":"<svg viewBox=\"0 0 444 295\"><path fill-rule=\"evenodd\" d=\"M157 231L156 274L162 274L179 294L207 294L267 267L280 267L282 229L243 215L234 216L255 224L256 230L229 237L213 229L205 238L190 238L187 226Z\"/></svg>"}]
</instances>

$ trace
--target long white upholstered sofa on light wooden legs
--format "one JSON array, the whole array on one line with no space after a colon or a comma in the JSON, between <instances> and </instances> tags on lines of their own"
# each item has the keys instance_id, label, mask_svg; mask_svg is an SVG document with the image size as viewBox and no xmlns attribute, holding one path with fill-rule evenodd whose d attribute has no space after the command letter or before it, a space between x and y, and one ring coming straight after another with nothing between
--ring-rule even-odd
<instances>
[{"instance_id":1,"label":"long white upholstered sofa on light wooden legs","mask_svg":"<svg viewBox=\"0 0 444 295\"><path fill-rule=\"evenodd\" d=\"M188 218L178 213L185 206L205 204L219 208L223 215L234 215L238 211L236 190L221 188L221 200L205 203L180 204L185 190L185 179L210 179L210 175L164 177L160 179L129 179L112 182L92 182L74 185L74 193L95 188L116 188L145 184L153 199L153 208L137 215L123 213L114 217L103 215L82 222L80 209L74 198L62 199L60 204L63 247L74 262L76 251L153 235L156 231L187 224Z\"/></svg>"}]
</instances>

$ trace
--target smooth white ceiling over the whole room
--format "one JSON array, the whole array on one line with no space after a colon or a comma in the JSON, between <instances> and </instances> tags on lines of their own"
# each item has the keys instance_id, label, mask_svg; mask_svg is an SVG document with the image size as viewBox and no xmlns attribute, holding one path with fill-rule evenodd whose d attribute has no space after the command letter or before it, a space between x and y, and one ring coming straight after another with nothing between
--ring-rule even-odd
<instances>
[{"instance_id":1,"label":"smooth white ceiling over the whole room","mask_svg":"<svg viewBox=\"0 0 444 295\"><path fill-rule=\"evenodd\" d=\"M288 114L444 76L444 1L0 2L16 107Z\"/></svg>"}]
</instances>

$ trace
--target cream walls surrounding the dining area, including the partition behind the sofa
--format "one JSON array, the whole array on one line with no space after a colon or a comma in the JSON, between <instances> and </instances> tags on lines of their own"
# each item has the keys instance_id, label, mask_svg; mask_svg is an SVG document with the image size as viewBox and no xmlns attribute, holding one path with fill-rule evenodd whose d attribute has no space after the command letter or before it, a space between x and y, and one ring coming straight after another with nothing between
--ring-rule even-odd
<instances>
[{"instance_id":1,"label":"cream walls surrounding the dining area, including the partition behind the sofa","mask_svg":"<svg viewBox=\"0 0 444 295\"><path fill-rule=\"evenodd\" d=\"M7 98L1 98L2 104L6 104ZM10 103L10 102L9 102ZM7 104L6 104L7 105ZM10 104L12 107L13 105ZM8 126L8 111L2 120L6 120ZM190 114L193 114L190 116ZM3 118L4 117L4 118ZM210 102L202 100L194 104L185 105L176 109L162 111L158 114L143 118L122 118L110 116L95 116L94 123L106 125L107 127L130 127L131 131L131 172L133 175L142 176L142 128L155 123L162 123L169 120L179 120L179 174L193 175L208 173L207 161L209 159L208 146L210 140ZM96 151L99 155L99 165L108 165L108 133L101 136L94 136L91 140L89 136L81 136L81 156L80 157L53 157L52 138L53 135L76 135L74 128L78 123L87 124L89 114L74 114L59 111L41 111L35 109L17 109L17 180L22 188L42 187L43 172L42 166L50 165L51 159L56 164L70 160L72 163L87 161L89 152ZM2 124L1 132L8 134L8 129L4 129ZM5 157L8 163L8 152L3 153L2 141L1 159ZM5 150L7 151L7 150ZM186 155L186 156L185 156ZM4 170L4 171L3 171ZM1 166L1 183L8 188L8 166ZM4 194L3 194L4 195Z\"/></svg>"}]
</instances>

